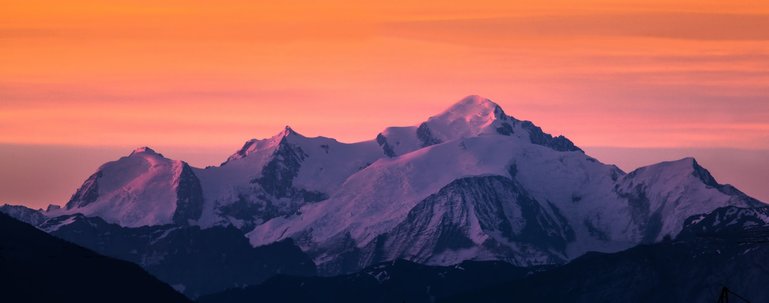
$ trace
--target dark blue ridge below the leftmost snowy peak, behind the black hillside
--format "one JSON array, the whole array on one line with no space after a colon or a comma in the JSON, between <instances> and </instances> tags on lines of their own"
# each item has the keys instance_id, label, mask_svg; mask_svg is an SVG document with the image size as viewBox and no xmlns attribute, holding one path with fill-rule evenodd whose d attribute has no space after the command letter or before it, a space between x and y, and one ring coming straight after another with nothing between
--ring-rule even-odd
<instances>
[{"instance_id":1,"label":"dark blue ridge below the leftmost snowy peak, behind the black hillside","mask_svg":"<svg viewBox=\"0 0 769 303\"><path fill-rule=\"evenodd\" d=\"M315 275L315 264L291 239L252 247L230 226L121 227L70 215L39 226L58 238L140 265L190 298L253 285L275 274Z\"/></svg>"}]
</instances>

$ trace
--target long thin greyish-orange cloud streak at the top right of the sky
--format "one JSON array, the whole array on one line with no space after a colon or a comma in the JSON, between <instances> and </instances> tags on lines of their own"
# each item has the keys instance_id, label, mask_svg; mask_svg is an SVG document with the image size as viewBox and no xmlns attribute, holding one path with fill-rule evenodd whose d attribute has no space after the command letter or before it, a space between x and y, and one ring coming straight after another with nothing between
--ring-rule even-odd
<instances>
[{"instance_id":1,"label":"long thin greyish-orange cloud streak at the top right of the sky","mask_svg":"<svg viewBox=\"0 0 769 303\"><path fill-rule=\"evenodd\" d=\"M548 37L769 40L769 15L647 12L393 22L388 34L453 43L515 45Z\"/></svg>"}]
</instances>

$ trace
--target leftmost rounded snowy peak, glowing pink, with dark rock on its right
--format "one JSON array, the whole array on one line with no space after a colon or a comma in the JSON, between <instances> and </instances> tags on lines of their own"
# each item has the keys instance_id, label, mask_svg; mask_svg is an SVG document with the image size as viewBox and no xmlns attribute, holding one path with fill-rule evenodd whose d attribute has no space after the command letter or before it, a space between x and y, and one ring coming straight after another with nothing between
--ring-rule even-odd
<instances>
[{"instance_id":1,"label":"leftmost rounded snowy peak, glowing pink, with dark rock on its right","mask_svg":"<svg viewBox=\"0 0 769 303\"><path fill-rule=\"evenodd\" d=\"M187 223L200 216L200 184L184 162L142 147L102 165L49 215L81 213L126 227Z\"/></svg>"}]
</instances>

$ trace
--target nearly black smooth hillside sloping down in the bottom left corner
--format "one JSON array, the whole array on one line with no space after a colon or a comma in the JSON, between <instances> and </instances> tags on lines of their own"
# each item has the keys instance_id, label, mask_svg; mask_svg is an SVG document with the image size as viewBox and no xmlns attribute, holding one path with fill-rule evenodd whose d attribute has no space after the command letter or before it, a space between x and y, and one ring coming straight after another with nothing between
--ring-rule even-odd
<instances>
[{"instance_id":1,"label":"nearly black smooth hillside sloping down in the bottom left corner","mask_svg":"<svg viewBox=\"0 0 769 303\"><path fill-rule=\"evenodd\" d=\"M0 302L190 302L138 265L0 214Z\"/></svg>"}]
</instances>

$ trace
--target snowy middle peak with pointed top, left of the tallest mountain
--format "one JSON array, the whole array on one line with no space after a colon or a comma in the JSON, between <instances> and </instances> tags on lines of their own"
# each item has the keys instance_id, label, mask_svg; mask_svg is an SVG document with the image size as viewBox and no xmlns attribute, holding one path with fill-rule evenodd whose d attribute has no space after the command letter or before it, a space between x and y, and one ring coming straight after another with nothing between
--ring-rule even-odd
<instances>
[{"instance_id":1,"label":"snowy middle peak with pointed top, left of the tallest mountain","mask_svg":"<svg viewBox=\"0 0 769 303\"><path fill-rule=\"evenodd\" d=\"M250 140L224 164L196 170L206 204L201 224L241 228L326 199L348 176L384 157L374 141L346 144L307 138L286 127Z\"/></svg>"}]
</instances>

